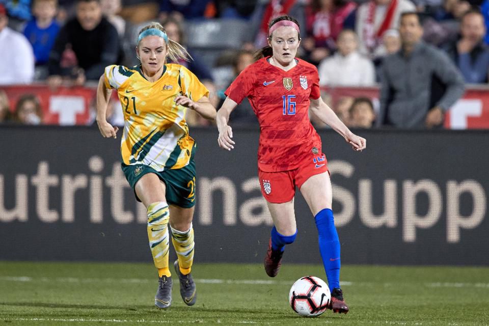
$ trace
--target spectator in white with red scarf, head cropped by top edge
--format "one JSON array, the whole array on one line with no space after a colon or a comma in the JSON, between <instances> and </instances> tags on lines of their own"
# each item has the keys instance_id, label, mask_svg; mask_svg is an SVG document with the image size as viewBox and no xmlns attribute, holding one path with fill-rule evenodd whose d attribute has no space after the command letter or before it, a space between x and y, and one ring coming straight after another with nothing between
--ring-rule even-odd
<instances>
[{"instance_id":1,"label":"spectator in white with red scarf, head cropped by top edge","mask_svg":"<svg viewBox=\"0 0 489 326\"><path fill-rule=\"evenodd\" d=\"M398 28L401 13L414 10L415 6L410 0L370 0L362 4L355 17L360 53L372 56L381 44L384 33Z\"/></svg>"}]
</instances>

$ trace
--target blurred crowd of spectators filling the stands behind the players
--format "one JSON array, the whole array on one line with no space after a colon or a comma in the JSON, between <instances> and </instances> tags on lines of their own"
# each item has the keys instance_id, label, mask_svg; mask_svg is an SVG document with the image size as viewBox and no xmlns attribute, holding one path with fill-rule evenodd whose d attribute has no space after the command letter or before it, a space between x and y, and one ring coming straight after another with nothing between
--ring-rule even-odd
<instances>
[{"instance_id":1,"label":"blurred crowd of spectators filling the stands behind the players","mask_svg":"<svg viewBox=\"0 0 489 326\"><path fill-rule=\"evenodd\" d=\"M425 78L431 78L432 72L441 79L440 98L448 91L461 96L460 83L488 82L489 0L0 0L0 88L31 83L46 83L51 88L91 86L105 66L137 65L138 32L145 23L159 21L171 39L188 48L194 60L179 64L205 83L219 108L227 86L254 62L255 51L266 45L269 20L289 14L301 25L297 56L318 67L321 86L380 84L384 90L385 98L381 90L380 101L323 94L346 125L411 127L418 122L396 119L392 117L395 111L388 114L382 107L388 106L389 90L399 91L392 76L403 74L391 57L417 35L416 26L413 30L406 26L404 34L400 33L401 16L406 12L419 16L421 34L416 41L425 44L428 53L413 52L421 56L420 62L445 63L447 59L456 70L426 68ZM413 69L409 60L405 69ZM457 96L452 97L456 100ZM423 105L443 112L448 110L444 106L453 104L451 100ZM197 115L187 120L190 125L209 123ZM311 120L323 127L315 117ZM12 108L6 92L0 90L0 121L42 123L39 101L26 94ZM257 126L247 100L238 105L230 121Z\"/></svg>"}]
</instances>

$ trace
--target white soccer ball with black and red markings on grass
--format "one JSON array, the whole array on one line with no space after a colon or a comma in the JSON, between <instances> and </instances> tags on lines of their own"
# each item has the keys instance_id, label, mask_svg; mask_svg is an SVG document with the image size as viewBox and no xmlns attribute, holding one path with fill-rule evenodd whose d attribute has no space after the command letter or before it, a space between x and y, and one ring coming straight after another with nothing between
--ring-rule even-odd
<instances>
[{"instance_id":1,"label":"white soccer ball with black and red markings on grass","mask_svg":"<svg viewBox=\"0 0 489 326\"><path fill-rule=\"evenodd\" d=\"M315 276L298 279L290 288L290 307L301 316L319 316L329 308L330 301L328 284Z\"/></svg>"}]
</instances>

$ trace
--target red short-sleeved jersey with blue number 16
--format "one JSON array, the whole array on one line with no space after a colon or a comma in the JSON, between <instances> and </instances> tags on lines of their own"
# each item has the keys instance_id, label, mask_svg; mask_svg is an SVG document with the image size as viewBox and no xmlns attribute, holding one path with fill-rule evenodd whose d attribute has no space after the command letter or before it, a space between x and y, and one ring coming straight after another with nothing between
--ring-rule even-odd
<instances>
[{"instance_id":1,"label":"red short-sleeved jersey with blue number 16","mask_svg":"<svg viewBox=\"0 0 489 326\"><path fill-rule=\"evenodd\" d=\"M236 103L248 96L260 123L258 167L265 172L293 170L305 153L321 148L309 120L309 98L320 96L317 68L295 60L297 65L284 71L262 58L244 69L225 92Z\"/></svg>"}]
</instances>

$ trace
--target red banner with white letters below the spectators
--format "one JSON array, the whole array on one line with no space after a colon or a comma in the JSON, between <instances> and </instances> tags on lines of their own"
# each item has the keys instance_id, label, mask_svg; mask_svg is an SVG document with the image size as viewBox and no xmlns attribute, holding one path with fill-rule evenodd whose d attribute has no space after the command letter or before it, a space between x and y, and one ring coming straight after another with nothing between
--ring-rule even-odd
<instances>
[{"instance_id":1,"label":"red banner with white letters below the spectators","mask_svg":"<svg viewBox=\"0 0 489 326\"><path fill-rule=\"evenodd\" d=\"M86 125L91 123L91 110L95 110L95 88L61 87L55 91L47 86L9 86L7 92L13 110L18 99L25 94L39 98L44 112L44 124ZM341 96L365 96L378 107L378 88L323 88L323 92L336 103ZM114 92L116 98L116 93ZM92 113L92 117L94 114ZM489 129L489 88L469 88L446 115L447 129Z\"/></svg>"}]
</instances>

